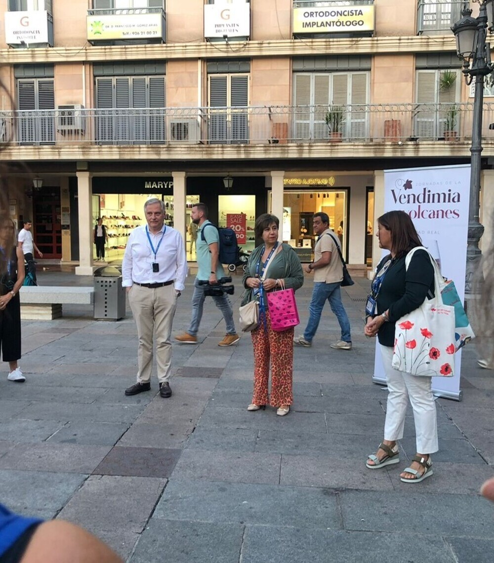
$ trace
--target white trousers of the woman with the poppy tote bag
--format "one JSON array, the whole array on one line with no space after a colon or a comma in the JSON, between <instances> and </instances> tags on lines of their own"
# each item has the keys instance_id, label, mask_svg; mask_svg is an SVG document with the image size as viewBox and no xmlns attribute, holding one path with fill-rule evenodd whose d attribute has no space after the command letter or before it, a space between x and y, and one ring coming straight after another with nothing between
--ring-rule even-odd
<instances>
[{"instance_id":1,"label":"white trousers of the woman with the poppy tote bag","mask_svg":"<svg viewBox=\"0 0 494 563\"><path fill-rule=\"evenodd\" d=\"M408 399L413 409L417 453L432 454L437 452L438 431L435 412L434 395L431 391L431 377L412 376L410 373L399 372L391 366L393 348L380 346L382 363L388 383L388 403L386 421L384 423L384 439L400 440L403 438L403 427Z\"/></svg>"}]
</instances>

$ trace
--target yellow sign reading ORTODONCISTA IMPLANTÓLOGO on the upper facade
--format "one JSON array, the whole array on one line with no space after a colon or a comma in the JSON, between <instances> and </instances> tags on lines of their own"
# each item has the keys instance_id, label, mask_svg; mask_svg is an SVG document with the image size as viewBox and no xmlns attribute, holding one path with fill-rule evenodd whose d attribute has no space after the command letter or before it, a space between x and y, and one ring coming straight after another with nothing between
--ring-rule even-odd
<instances>
[{"instance_id":1,"label":"yellow sign reading ORTODONCISTA IMPLANT\u00d3LOGO on the upper facade","mask_svg":"<svg viewBox=\"0 0 494 563\"><path fill-rule=\"evenodd\" d=\"M370 32L374 6L293 8L293 33Z\"/></svg>"}]
</instances>

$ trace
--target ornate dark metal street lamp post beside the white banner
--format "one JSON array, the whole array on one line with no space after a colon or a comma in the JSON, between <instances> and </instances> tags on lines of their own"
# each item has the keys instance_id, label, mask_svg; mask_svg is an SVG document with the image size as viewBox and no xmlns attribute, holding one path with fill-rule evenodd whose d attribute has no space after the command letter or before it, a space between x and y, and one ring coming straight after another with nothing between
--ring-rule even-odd
<instances>
[{"instance_id":1,"label":"ornate dark metal street lamp post beside the white banner","mask_svg":"<svg viewBox=\"0 0 494 563\"><path fill-rule=\"evenodd\" d=\"M473 280L480 263L479 240L484 227L479 222L480 195L480 154L482 153L482 110L484 102L484 76L494 69L491 62L491 46L487 43L487 27L494 28L494 0L475 0L479 2L478 17L471 17L471 10L465 8L460 21L451 28L456 37L456 51L463 60L462 73L465 82L470 84L475 79L475 97L473 104L473 125L471 134L471 172L470 172L470 208L468 217L468 247L466 249L465 293L473 293Z\"/></svg>"}]
</instances>

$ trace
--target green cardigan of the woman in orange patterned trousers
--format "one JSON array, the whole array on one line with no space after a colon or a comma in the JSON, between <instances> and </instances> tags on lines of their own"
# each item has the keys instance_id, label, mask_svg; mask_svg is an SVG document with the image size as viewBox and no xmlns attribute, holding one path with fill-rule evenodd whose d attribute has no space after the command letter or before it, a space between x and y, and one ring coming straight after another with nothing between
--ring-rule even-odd
<instances>
[{"instance_id":1,"label":"green cardigan of the woman in orange patterned trousers","mask_svg":"<svg viewBox=\"0 0 494 563\"><path fill-rule=\"evenodd\" d=\"M256 275L257 262L262 256L262 247L264 247L264 244L253 249L247 262L247 271L242 278L242 284L246 291L242 296L241 305L246 305L246 303L253 301L255 298L252 288L247 287L246 281L247 278L253 278ZM282 278L285 287L287 289L293 288L295 291L304 285L304 270L302 270L300 259L289 244L282 243L281 252L273 260L274 262L269 266L268 278Z\"/></svg>"}]
</instances>

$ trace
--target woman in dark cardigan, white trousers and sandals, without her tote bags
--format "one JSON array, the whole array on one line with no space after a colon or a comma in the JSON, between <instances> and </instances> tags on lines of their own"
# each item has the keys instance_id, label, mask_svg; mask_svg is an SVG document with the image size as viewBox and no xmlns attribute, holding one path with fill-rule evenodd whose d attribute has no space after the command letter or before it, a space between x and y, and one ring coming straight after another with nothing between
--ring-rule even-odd
<instances>
[{"instance_id":1,"label":"woman in dark cardigan, white trousers and sandals, without her tote bags","mask_svg":"<svg viewBox=\"0 0 494 563\"><path fill-rule=\"evenodd\" d=\"M419 483L432 475L430 454L438 450L437 419L431 377L412 376L391 367L395 323L403 315L418 309L428 294L434 295L434 269L426 251L413 254L408 270L405 257L421 240L412 220L403 211L390 211L377 220L379 246L389 250L377 266L372 282L376 310L368 316L364 333L377 336L388 384L388 403L384 440L376 454L369 455L366 466L380 469L399 463L397 440L403 437L407 398L413 409L417 454L410 467L400 474L407 483Z\"/></svg>"}]
</instances>

